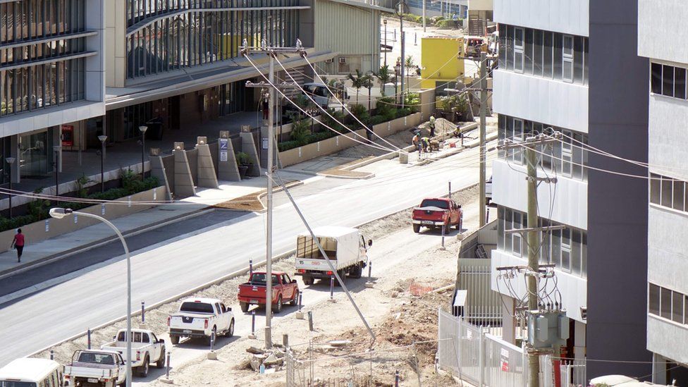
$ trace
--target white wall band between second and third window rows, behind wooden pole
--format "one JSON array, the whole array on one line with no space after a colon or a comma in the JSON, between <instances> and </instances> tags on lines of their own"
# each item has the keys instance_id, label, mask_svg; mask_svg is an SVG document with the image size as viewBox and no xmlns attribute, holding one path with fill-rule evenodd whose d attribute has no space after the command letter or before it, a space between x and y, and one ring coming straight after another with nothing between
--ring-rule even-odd
<instances>
[{"instance_id":1,"label":"white wall band between second and third window rows, behind wooden pole","mask_svg":"<svg viewBox=\"0 0 688 387\"><path fill-rule=\"evenodd\" d=\"M516 170L516 171L515 171ZM538 170L541 177L546 177ZM504 160L495 160L492 164L492 198L493 202L517 209L528 211L527 181L525 180L525 166L508 164ZM550 177L553 177L551 174ZM540 216L553 221L564 223L575 228L586 230L588 227L588 185L581 180L557 176L558 183L541 183L538 187L538 206ZM551 199L554 195L554 207L549 218Z\"/></svg>"}]
</instances>

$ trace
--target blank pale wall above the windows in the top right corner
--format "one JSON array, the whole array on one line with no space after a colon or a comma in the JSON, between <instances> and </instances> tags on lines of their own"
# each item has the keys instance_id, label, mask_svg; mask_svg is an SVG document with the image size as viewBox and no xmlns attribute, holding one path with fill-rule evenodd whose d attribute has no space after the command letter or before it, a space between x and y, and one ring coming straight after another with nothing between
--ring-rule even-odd
<instances>
[{"instance_id":1,"label":"blank pale wall above the windows in the top right corner","mask_svg":"<svg viewBox=\"0 0 688 387\"><path fill-rule=\"evenodd\" d=\"M683 0L639 0L638 55L688 63L686 20Z\"/></svg>"}]
</instances>

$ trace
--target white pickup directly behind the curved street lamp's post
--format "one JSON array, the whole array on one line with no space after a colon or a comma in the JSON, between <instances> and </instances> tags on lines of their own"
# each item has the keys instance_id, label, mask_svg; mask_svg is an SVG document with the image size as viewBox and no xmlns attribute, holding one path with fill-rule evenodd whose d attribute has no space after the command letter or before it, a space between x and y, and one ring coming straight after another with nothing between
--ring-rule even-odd
<instances>
[{"instance_id":1,"label":"white pickup directly behind the curved street lamp's post","mask_svg":"<svg viewBox=\"0 0 688 387\"><path fill-rule=\"evenodd\" d=\"M155 362L156 368L162 368L165 365L165 340L158 340L155 333L145 329L132 329L131 336L131 367L136 369L139 376L148 376L150 362ZM118 352L125 361L128 360L128 356L125 354L127 330L120 329L113 340L102 345L100 349Z\"/></svg>"}]
</instances>

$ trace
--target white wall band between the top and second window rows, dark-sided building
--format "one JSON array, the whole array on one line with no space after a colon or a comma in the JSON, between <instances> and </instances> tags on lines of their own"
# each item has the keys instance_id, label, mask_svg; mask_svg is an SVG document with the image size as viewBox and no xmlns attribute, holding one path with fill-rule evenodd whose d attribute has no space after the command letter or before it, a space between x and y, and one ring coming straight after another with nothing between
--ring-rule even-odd
<instances>
[{"instance_id":1,"label":"white wall band between the top and second window rows, dark-sided building","mask_svg":"<svg viewBox=\"0 0 688 387\"><path fill-rule=\"evenodd\" d=\"M495 70L494 111L588 133L588 87Z\"/></svg>"}]
</instances>

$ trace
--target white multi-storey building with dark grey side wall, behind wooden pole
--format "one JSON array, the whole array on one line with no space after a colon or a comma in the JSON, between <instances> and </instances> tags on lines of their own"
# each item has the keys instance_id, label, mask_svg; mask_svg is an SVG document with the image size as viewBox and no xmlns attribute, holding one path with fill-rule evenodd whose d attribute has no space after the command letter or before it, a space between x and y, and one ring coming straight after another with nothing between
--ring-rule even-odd
<instances>
[{"instance_id":1,"label":"white multi-storey building with dark grey side wall, behind wooden pole","mask_svg":"<svg viewBox=\"0 0 688 387\"><path fill-rule=\"evenodd\" d=\"M500 50L493 103L499 137L519 142L533 133L557 131L563 139L536 149L538 176L556 178L556 183L539 183L537 225L527 224L522 149L500 151L494 161L498 248L493 268L527 264L525 235L509 233L510 229L563 226L539 233L537 249L539 262L555 266L557 301L571 319L563 355L648 361L645 296L639 285L646 276L646 195L639 179L614 174L638 174L639 167L584 150L595 147L646 160L647 117L638 97L643 87L629 85L646 75L646 63L635 55L630 33L637 26L637 19L629 18L637 15L636 2L546 3L494 1ZM520 296L525 295L524 281L514 285ZM493 289L508 295L494 280ZM510 297L505 301L508 316L516 302ZM506 318L504 326L505 338L513 339L512 319ZM588 376L649 374L648 364L601 364L588 362Z\"/></svg>"}]
</instances>

